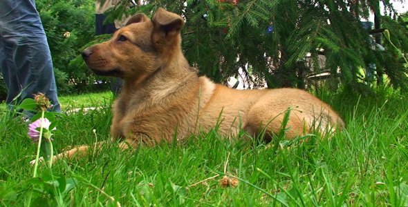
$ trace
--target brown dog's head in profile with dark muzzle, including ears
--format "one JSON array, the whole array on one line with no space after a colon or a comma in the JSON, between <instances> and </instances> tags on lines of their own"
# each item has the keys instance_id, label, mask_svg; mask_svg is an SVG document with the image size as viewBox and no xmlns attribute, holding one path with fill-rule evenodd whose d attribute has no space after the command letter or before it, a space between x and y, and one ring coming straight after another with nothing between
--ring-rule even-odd
<instances>
[{"instance_id":1,"label":"brown dog's head in profile with dark muzzle, including ears","mask_svg":"<svg viewBox=\"0 0 408 207\"><path fill-rule=\"evenodd\" d=\"M82 57L97 75L147 77L180 51L183 26L183 18L163 8L152 19L135 14L109 41L86 48Z\"/></svg>"}]
</instances>

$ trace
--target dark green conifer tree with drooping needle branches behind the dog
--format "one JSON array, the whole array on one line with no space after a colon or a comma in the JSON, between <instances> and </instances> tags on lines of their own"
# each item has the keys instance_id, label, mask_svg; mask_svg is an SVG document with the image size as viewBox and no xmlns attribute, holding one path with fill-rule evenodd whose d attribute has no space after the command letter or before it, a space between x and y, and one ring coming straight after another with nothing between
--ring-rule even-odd
<instances>
[{"instance_id":1,"label":"dark green conifer tree with drooping needle branches behind the dog","mask_svg":"<svg viewBox=\"0 0 408 207\"><path fill-rule=\"evenodd\" d=\"M182 37L187 59L217 82L238 75L241 68L254 86L266 81L269 88L303 88L307 75L329 70L346 87L374 79L382 83L387 75L394 87L407 90L408 66L401 55L408 52L407 20L392 2L124 0L110 15L151 15L159 7L181 14L186 19ZM375 27L367 30L361 19L370 14L375 14ZM384 30L393 45L384 38ZM322 56L324 65L319 63ZM377 77L369 76L373 72Z\"/></svg>"}]
</instances>

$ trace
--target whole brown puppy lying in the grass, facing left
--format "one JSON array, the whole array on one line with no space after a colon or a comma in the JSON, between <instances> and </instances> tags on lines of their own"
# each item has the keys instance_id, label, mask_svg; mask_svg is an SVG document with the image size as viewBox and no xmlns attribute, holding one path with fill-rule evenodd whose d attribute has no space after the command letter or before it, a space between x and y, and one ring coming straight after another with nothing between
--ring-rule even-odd
<instances>
[{"instance_id":1,"label":"whole brown puppy lying in the grass, facing left","mask_svg":"<svg viewBox=\"0 0 408 207\"><path fill-rule=\"evenodd\" d=\"M310 131L322 134L343 127L326 103L304 90L234 90L198 77L180 48L184 21L160 8L153 19L136 14L112 39L86 48L86 64L98 75L121 77L124 86L113 104L111 135L136 146L183 139L219 124L219 133L235 137L266 129L266 139L281 130L288 108L286 137ZM127 145L121 144L122 148ZM71 157L75 148L62 155Z\"/></svg>"}]
</instances>

